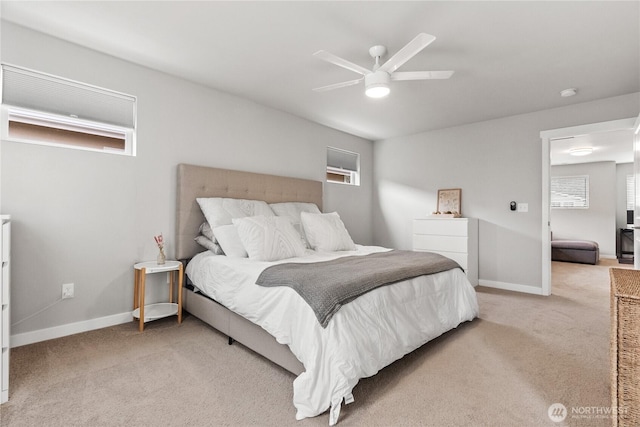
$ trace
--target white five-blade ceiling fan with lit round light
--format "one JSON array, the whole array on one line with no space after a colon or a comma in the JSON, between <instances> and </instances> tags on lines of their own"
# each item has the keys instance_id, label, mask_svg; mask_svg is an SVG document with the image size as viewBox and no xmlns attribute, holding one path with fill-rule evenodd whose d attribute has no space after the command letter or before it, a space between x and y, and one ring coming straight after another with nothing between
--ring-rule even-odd
<instances>
[{"instance_id":1,"label":"white five-blade ceiling fan with lit round light","mask_svg":"<svg viewBox=\"0 0 640 427\"><path fill-rule=\"evenodd\" d=\"M436 38L432 35L420 33L382 65L380 65L380 58L387 53L387 48L379 45L373 46L369 49L369 55L371 55L376 61L372 70L368 70L327 51L320 50L314 53L313 56L339 67L346 68L347 70L362 74L362 77L356 80L349 80L346 82L318 87L313 90L316 92L324 92L341 87L357 85L364 80L366 95L371 98L382 98L391 92L391 89L389 88L391 80L448 79L453 75L453 71L396 71L405 62L413 58L418 54L418 52L431 44L435 39Z\"/></svg>"}]
</instances>

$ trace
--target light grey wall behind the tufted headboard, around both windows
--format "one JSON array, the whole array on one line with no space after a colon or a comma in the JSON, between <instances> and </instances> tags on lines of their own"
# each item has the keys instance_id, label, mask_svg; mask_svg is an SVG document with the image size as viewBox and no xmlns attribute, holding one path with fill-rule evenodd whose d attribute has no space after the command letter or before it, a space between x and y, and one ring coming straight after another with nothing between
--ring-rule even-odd
<instances>
[{"instance_id":1,"label":"light grey wall behind the tufted headboard, around both windows","mask_svg":"<svg viewBox=\"0 0 640 427\"><path fill-rule=\"evenodd\" d=\"M359 152L361 185L325 184L324 209L372 243L370 141L13 24L1 30L7 63L138 97L136 157L2 141L12 345L130 319L132 265L155 259L160 232L173 255L178 163L324 180L327 145ZM67 282L75 298L59 301Z\"/></svg>"}]
</instances>

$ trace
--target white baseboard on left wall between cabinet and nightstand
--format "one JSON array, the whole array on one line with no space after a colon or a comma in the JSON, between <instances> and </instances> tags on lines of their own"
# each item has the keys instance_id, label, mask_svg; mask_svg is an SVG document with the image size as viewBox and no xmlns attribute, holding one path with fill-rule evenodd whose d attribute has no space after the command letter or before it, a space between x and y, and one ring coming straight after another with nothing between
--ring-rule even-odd
<instances>
[{"instance_id":1,"label":"white baseboard on left wall between cabinet and nightstand","mask_svg":"<svg viewBox=\"0 0 640 427\"><path fill-rule=\"evenodd\" d=\"M114 314L111 316L99 317L97 319L84 320L82 322L68 323L66 325L54 326L53 328L39 329L37 331L25 332L23 334L11 335L10 347L20 347L22 345L33 344L40 341L47 341L54 338L66 337L67 335L78 334L80 332L93 331L109 326L120 325L131 322L133 317L131 312Z\"/></svg>"}]
</instances>

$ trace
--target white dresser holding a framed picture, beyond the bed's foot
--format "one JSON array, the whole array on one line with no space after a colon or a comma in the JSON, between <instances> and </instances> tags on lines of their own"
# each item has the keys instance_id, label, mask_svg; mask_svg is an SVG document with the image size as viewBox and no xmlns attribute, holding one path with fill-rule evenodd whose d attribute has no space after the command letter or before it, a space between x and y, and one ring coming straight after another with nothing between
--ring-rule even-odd
<instances>
[{"instance_id":1,"label":"white dresser holding a framed picture, beyond the bed's foot","mask_svg":"<svg viewBox=\"0 0 640 427\"><path fill-rule=\"evenodd\" d=\"M478 219L413 220L413 250L436 252L460 264L473 286L478 284Z\"/></svg>"}]
</instances>

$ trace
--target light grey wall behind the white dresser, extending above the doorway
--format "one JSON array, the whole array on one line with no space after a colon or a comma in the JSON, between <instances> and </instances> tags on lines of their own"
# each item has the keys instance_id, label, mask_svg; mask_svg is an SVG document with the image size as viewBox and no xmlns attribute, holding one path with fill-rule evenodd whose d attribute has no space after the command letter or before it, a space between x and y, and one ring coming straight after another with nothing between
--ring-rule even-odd
<instances>
[{"instance_id":1,"label":"light grey wall behind the white dresser, extending above the doorway","mask_svg":"<svg viewBox=\"0 0 640 427\"><path fill-rule=\"evenodd\" d=\"M541 292L540 131L636 117L639 95L376 141L375 244L411 248L411 220L435 210L439 188L459 187L463 215L480 220L481 283Z\"/></svg>"}]
</instances>

